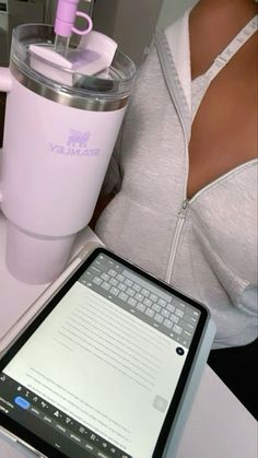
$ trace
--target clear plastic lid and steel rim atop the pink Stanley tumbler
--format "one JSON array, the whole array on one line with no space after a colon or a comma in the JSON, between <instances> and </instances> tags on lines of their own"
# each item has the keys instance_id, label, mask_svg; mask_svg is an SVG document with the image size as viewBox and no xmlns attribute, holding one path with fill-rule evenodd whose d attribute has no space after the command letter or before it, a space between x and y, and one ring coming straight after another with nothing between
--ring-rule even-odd
<instances>
[{"instance_id":1,"label":"clear plastic lid and steel rim atop the pink Stanley tumbler","mask_svg":"<svg viewBox=\"0 0 258 458\"><path fill-rule=\"evenodd\" d=\"M79 52L81 57L83 50L86 50L83 47L86 46L91 51L91 43L86 44L87 39L91 42L91 34L99 38L99 33L92 31L82 37L83 42L78 47L69 51ZM96 74L83 74L77 66L67 68L35 54L35 46L52 49L55 39L51 25L22 24L14 28L10 68L21 84L45 98L81 109L106 111L119 109L127 104L137 70L128 56L117 48L109 67ZM106 37L106 43L108 39ZM93 52L96 50L93 49ZM105 58L104 54L102 57ZM44 66L45 71L42 70Z\"/></svg>"}]
</instances>

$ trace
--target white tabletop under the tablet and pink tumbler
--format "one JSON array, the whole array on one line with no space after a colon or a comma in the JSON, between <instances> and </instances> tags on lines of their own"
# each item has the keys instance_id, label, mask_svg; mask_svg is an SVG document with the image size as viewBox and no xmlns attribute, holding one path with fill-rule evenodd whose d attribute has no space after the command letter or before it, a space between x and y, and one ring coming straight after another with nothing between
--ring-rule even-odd
<instances>
[{"instance_id":1,"label":"white tabletop under the tablet and pink tumbler","mask_svg":"<svg viewBox=\"0 0 258 458\"><path fill-rule=\"evenodd\" d=\"M92 235L83 231L77 246ZM0 339L47 286L12 278L4 265L4 250L5 220L0 212ZM24 454L0 439L0 458L22 457ZM257 457L256 420L207 365L176 458Z\"/></svg>"}]
</instances>

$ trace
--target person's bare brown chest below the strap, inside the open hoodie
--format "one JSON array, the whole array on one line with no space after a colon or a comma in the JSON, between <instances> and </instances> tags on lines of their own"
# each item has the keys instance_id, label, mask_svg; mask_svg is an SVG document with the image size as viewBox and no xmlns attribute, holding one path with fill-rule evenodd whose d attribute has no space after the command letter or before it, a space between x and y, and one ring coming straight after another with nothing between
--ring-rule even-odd
<instances>
[{"instance_id":1,"label":"person's bare brown chest below the strap, inside the open hoodie","mask_svg":"<svg viewBox=\"0 0 258 458\"><path fill-rule=\"evenodd\" d=\"M192 83L198 109L189 143L189 198L257 156L257 57L245 62L239 58L216 75L203 98L197 91L198 79Z\"/></svg>"}]
</instances>

